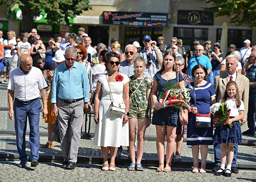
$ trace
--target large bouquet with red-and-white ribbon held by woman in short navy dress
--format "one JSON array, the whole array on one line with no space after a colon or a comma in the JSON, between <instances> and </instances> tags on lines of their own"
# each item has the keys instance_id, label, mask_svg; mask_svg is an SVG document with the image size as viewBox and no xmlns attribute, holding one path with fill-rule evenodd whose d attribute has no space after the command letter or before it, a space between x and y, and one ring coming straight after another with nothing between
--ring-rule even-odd
<instances>
[{"instance_id":1,"label":"large bouquet with red-and-white ribbon held by woman in short navy dress","mask_svg":"<svg viewBox=\"0 0 256 182\"><path fill-rule=\"evenodd\" d=\"M190 101L190 89L179 88L178 84L167 85L166 92L160 92L159 102L163 104L164 107L172 106L181 111L187 109L190 111L188 102ZM154 109L154 108L153 108Z\"/></svg>"}]
</instances>

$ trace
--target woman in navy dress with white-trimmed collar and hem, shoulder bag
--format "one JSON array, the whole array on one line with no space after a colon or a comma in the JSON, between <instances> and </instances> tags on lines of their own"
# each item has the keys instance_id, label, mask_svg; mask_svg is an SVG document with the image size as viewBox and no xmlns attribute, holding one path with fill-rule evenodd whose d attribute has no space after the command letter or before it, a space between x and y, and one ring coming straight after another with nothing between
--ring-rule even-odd
<instances>
[{"instance_id":1,"label":"woman in navy dress with white-trimmed collar and hem, shoulder bag","mask_svg":"<svg viewBox=\"0 0 256 182\"><path fill-rule=\"evenodd\" d=\"M187 128L187 145L192 145L192 155L194 160L194 167L192 172L199 172L199 145L201 152L201 169L200 173L204 174L206 171L206 159L208 153L208 145L213 145L212 133L213 127L197 128L195 127L195 114L209 114L210 106L215 101L215 91L211 83L203 80L207 76L207 69L198 64L192 69L192 76L195 77L194 82L187 85L191 89L190 92L190 109L189 122ZM194 86L194 90L193 90ZM196 95L196 107L194 106L194 92Z\"/></svg>"}]
</instances>

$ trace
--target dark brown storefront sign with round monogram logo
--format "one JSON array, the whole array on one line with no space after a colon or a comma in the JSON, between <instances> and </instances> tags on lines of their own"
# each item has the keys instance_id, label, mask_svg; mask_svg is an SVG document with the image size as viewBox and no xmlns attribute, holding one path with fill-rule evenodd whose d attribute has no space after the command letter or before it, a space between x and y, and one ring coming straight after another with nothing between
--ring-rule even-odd
<instances>
[{"instance_id":1,"label":"dark brown storefront sign with round monogram logo","mask_svg":"<svg viewBox=\"0 0 256 182\"><path fill-rule=\"evenodd\" d=\"M213 12L178 10L178 24L213 25Z\"/></svg>"}]
</instances>

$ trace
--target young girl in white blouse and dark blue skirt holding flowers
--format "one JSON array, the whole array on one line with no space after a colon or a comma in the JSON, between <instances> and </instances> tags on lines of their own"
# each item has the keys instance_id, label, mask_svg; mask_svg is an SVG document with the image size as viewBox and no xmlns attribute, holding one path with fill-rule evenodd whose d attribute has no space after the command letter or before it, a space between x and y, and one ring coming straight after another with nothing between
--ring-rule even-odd
<instances>
[{"instance_id":1,"label":"young girl in white blouse and dark blue skirt holding flowers","mask_svg":"<svg viewBox=\"0 0 256 182\"><path fill-rule=\"evenodd\" d=\"M223 98L220 103L224 102L230 109L230 119L223 124L219 124L214 132L213 142L221 144L221 169L215 175L224 174L231 176L231 164L234 157L234 144L242 142L242 132L239 120L243 119L244 104L240 100L238 86L234 81L229 81ZM229 125L232 124L232 127ZM227 154L228 151L228 154ZM225 170L225 161L227 159L227 168Z\"/></svg>"}]
</instances>

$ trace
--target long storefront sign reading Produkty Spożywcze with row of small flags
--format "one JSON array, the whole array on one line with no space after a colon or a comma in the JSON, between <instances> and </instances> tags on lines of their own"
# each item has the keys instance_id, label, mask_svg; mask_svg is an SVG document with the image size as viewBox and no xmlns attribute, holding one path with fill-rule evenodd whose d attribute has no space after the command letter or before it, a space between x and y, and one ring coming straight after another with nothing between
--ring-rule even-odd
<instances>
[{"instance_id":1,"label":"long storefront sign reading Produkty Spo\u017cywcze with row of small flags","mask_svg":"<svg viewBox=\"0 0 256 182\"><path fill-rule=\"evenodd\" d=\"M167 26L167 13L103 12L103 24Z\"/></svg>"}]
</instances>

